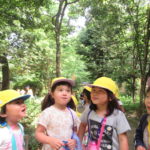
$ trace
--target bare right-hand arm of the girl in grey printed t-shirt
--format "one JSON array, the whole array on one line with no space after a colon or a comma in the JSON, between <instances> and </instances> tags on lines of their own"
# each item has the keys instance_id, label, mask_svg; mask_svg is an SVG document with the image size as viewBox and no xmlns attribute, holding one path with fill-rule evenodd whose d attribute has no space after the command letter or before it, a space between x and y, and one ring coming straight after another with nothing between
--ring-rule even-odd
<instances>
[{"instance_id":1,"label":"bare right-hand arm of the girl in grey printed t-shirt","mask_svg":"<svg viewBox=\"0 0 150 150\"><path fill-rule=\"evenodd\" d=\"M119 150L129 150L128 137L126 133L118 135L119 138Z\"/></svg>"}]
</instances>

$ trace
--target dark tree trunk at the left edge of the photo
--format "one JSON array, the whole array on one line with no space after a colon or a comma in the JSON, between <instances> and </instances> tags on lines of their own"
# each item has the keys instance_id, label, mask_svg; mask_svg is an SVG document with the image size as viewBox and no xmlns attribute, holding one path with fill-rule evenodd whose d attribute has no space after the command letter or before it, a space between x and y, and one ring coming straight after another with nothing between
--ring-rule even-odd
<instances>
[{"instance_id":1,"label":"dark tree trunk at the left edge of the photo","mask_svg":"<svg viewBox=\"0 0 150 150\"><path fill-rule=\"evenodd\" d=\"M0 56L0 63L2 64L2 90L9 89L9 65L5 56Z\"/></svg>"}]
</instances>

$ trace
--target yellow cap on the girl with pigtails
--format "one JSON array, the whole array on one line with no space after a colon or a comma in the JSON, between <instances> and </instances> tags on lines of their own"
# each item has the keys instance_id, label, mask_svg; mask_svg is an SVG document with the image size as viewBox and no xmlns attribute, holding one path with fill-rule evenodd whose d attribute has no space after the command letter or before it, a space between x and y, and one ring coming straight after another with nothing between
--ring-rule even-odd
<instances>
[{"instance_id":1,"label":"yellow cap on the girl with pigtails","mask_svg":"<svg viewBox=\"0 0 150 150\"><path fill-rule=\"evenodd\" d=\"M63 82L63 81L69 83L71 86L75 85L74 81L71 79L67 79L64 77L58 77L58 78L54 78L52 80L51 87L53 87L56 83Z\"/></svg>"}]
</instances>

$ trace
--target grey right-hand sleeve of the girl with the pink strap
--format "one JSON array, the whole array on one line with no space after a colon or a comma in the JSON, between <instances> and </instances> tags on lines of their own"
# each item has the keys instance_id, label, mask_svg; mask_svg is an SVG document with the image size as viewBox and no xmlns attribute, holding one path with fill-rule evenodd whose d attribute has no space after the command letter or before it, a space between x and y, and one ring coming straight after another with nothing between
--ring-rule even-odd
<instances>
[{"instance_id":1,"label":"grey right-hand sleeve of the girl with the pink strap","mask_svg":"<svg viewBox=\"0 0 150 150\"><path fill-rule=\"evenodd\" d=\"M130 125L126 119L126 116L123 112L117 111L117 118L116 118L116 129L118 134L125 133L131 130Z\"/></svg>"}]
</instances>

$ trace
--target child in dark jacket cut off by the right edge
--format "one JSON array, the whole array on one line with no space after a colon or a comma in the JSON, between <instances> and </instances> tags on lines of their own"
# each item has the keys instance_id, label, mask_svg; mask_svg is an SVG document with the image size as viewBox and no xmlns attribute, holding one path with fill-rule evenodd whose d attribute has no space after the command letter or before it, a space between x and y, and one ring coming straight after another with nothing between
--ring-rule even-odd
<instances>
[{"instance_id":1,"label":"child in dark jacket cut off by the right edge","mask_svg":"<svg viewBox=\"0 0 150 150\"><path fill-rule=\"evenodd\" d=\"M146 91L145 106L147 113L142 116L136 129L136 150L150 150L150 87Z\"/></svg>"}]
</instances>

